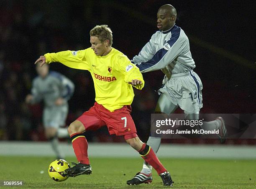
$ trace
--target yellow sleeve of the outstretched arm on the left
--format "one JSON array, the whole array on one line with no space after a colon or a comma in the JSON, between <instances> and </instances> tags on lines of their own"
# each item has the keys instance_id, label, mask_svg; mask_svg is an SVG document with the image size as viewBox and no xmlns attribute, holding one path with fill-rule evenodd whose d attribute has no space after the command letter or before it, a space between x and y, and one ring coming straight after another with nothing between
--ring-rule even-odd
<instances>
[{"instance_id":1,"label":"yellow sleeve of the outstretched arm on the left","mask_svg":"<svg viewBox=\"0 0 256 189\"><path fill-rule=\"evenodd\" d=\"M47 53L44 55L46 57L46 63L60 62L67 67L71 67L79 70L90 70L90 66L86 61L86 50L78 51L61 51L57 53Z\"/></svg>"}]
</instances>

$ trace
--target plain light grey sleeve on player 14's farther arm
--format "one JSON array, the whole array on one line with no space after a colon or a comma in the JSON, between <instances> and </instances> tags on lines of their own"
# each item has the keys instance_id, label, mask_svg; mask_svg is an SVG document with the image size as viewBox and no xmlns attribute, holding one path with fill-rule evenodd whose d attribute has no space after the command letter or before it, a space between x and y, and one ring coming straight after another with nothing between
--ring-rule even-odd
<instances>
[{"instance_id":1,"label":"plain light grey sleeve on player 14's farther arm","mask_svg":"<svg viewBox=\"0 0 256 189\"><path fill-rule=\"evenodd\" d=\"M154 54L156 53L156 45L154 44L154 37L155 35L152 35L151 39L142 48L141 52L139 52L138 55L133 57L133 60L131 60L133 64L140 65L141 62L146 62L154 56Z\"/></svg>"}]
</instances>

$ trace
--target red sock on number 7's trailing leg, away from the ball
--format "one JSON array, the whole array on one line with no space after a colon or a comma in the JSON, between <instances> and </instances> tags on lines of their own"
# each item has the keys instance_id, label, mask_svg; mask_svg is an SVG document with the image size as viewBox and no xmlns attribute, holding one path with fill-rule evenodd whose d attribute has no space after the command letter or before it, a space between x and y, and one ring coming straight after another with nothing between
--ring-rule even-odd
<instances>
[{"instance_id":1,"label":"red sock on number 7's trailing leg, away from the ball","mask_svg":"<svg viewBox=\"0 0 256 189\"><path fill-rule=\"evenodd\" d=\"M146 145L146 143L143 144L141 149L138 151L141 154L141 157L154 169L156 169L156 172L158 174L161 174L163 172L166 172L167 170L164 168L164 166L161 164L159 159L156 157L155 152L153 149L151 149L150 146Z\"/></svg>"}]
</instances>

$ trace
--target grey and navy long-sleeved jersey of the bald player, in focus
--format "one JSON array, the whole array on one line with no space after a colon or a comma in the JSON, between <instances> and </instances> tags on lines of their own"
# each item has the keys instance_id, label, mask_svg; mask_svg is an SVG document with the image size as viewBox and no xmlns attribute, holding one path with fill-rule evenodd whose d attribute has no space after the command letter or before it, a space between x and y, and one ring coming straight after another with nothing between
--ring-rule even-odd
<instances>
[{"instance_id":1,"label":"grey and navy long-sleeved jersey of the bald player, in focus","mask_svg":"<svg viewBox=\"0 0 256 189\"><path fill-rule=\"evenodd\" d=\"M157 31L132 62L143 72L162 70L165 77L195 68L184 31L174 25L170 30Z\"/></svg>"}]
</instances>

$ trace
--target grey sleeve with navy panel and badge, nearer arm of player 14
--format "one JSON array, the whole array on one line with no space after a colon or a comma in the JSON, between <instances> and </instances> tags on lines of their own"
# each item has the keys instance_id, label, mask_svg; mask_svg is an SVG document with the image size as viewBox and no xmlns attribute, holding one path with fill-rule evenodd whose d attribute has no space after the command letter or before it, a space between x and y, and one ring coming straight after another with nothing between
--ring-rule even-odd
<instances>
[{"instance_id":1,"label":"grey sleeve with navy panel and badge, nearer arm of player 14","mask_svg":"<svg viewBox=\"0 0 256 189\"><path fill-rule=\"evenodd\" d=\"M175 28L172 31L172 37L164 44L162 49L158 50L150 60L137 65L142 73L161 70L181 54L182 39L180 32L181 29L179 27Z\"/></svg>"}]
</instances>

